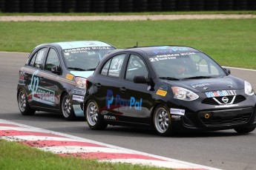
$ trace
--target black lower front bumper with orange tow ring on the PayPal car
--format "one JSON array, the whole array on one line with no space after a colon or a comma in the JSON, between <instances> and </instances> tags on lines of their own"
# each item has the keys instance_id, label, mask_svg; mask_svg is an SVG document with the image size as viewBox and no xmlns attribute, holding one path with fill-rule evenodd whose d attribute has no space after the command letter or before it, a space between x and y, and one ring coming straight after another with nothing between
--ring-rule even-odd
<instances>
[{"instance_id":1,"label":"black lower front bumper with orange tow ring on the PayPal car","mask_svg":"<svg viewBox=\"0 0 256 170\"><path fill-rule=\"evenodd\" d=\"M200 112L186 112L186 115L172 120L174 129L223 130L256 126L256 109L221 109Z\"/></svg>"}]
</instances>

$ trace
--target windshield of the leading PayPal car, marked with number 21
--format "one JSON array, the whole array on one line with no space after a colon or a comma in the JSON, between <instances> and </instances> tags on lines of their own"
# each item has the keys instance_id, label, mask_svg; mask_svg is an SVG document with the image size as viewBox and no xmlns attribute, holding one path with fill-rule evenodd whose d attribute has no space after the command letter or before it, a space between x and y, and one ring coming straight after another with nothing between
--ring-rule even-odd
<instances>
[{"instance_id":1,"label":"windshield of the leading PayPal car, marked with number 21","mask_svg":"<svg viewBox=\"0 0 256 170\"><path fill-rule=\"evenodd\" d=\"M226 72L203 52L177 52L148 57L159 78L166 80L186 80L217 78Z\"/></svg>"}]
</instances>

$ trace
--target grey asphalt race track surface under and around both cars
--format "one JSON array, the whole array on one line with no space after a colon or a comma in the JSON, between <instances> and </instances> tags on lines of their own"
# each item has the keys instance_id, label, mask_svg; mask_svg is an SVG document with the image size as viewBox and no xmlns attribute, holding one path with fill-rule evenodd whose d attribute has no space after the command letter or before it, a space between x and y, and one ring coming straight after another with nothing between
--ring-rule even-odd
<instances>
[{"instance_id":1,"label":"grey asphalt race track surface under and around both cars","mask_svg":"<svg viewBox=\"0 0 256 170\"><path fill-rule=\"evenodd\" d=\"M19 68L27 55L0 52L0 119L217 169L255 169L256 131L248 135L225 130L160 137L149 130L119 126L92 131L83 119L66 121L61 115L47 112L22 116L16 102L16 86ZM255 70L231 68L231 71L256 89Z\"/></svg>"}]
</instances>

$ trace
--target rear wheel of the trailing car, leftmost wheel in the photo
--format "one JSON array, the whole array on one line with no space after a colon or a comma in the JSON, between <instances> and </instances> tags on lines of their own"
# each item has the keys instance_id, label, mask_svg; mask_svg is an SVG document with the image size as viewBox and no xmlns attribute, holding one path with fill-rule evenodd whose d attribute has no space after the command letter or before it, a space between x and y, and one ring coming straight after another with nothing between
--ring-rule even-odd
<instances>
[{"instance_id":1,"label":"rear wheel of the trailing car, leftmost wheel in the photo","mask_svg":"<svg viewBox=\"0 0 256 170\"><path fill-rule=\"evenodd\" d=\"M19 111L22 113L22 115L34 115L36 110L30 108L27 102L27 95L23 89L19 89L17 97Z\"/></svg>"}]
</instances>

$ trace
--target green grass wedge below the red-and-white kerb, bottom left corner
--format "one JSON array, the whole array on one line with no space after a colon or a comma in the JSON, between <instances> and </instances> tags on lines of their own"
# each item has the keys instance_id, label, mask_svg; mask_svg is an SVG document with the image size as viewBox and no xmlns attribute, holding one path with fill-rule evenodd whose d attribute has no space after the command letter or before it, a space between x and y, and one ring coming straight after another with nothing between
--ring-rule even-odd
<instances>
[{"instance_id":1,"label":"green grass wedge below the red-and-white kerb, bottom left corner","mask_svg":"<svg viewBox=\"0 0 256 170\"><path fill-rule=\"evenodd\" d=\"M57 154L43 152L16 142L0 140L0 169L157 169L124 163L99 163L96 160L85 160L76 157L60 157Z\"/></svg>"}]
</instances>

